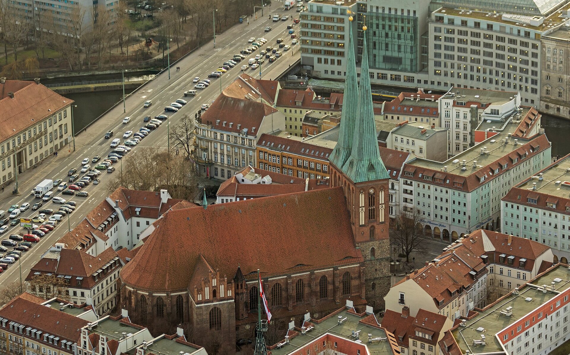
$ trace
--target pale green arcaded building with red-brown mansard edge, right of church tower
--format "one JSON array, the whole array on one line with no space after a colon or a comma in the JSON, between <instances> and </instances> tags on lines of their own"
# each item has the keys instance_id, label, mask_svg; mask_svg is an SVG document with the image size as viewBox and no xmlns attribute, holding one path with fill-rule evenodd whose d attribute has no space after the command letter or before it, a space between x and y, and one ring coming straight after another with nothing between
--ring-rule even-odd
<instances>
[{"instance_id":1,"label":"pale green arcaded building with red-brown mansard edge, right of church tower","mask_svg":"<svg viewBox=\"0 0 570 355\"><path fill-rule=\"evenodd\" d=\"M499 228L500 199L549 165L540 115L519 109L505 120L483 121L475 130L477 144L453 158L405 164L400 188L407 201L400 205L418 211L426 234L453 241L478 228Z\"/></svg>"}]
</instances>

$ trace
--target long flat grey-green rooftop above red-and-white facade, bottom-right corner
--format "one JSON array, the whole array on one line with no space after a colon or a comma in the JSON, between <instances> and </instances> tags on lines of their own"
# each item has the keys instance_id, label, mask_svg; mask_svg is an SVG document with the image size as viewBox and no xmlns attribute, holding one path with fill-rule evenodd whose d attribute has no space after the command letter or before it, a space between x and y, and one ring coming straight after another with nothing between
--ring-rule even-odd
<instances>
[{"instance_id":1,"label":"long flat grey-green rooftop above red-and-white facade, bottom-right corner","mask_svg":"<svg viewBox=\"0 0 570 355\"><path fill-rule=\"evenodd\" d=\"M561 279L561 281L555 282L555 279ZM535 285L550 285L553 283L556 290L562 291L568 288L569 279L570 271L568 271L568 268L558 266L543 276L529 282ZM510 293L510 295L498 303L479 312L478 316L467 320L465 327L459 325L459 327L453 331L453 336L459 348L461 348L462 353L465 353L466 350L469 350L471 354L503 352L503 347L497 340L495 334L508 327L508 325L515 323L516 320L526 316L532 310L556 295L557 293L543 293L536 288L523 286L519 290L518 295ZM527 301L527 297L531 300ZM500 311L507 307L512 307L512 316L510 317L500 314ZM483 328L484 332L477 330L478 328ZM482 334L486 336L486 345L473 345L473 341L480 340Z\"/></svg>"}]
</instances>

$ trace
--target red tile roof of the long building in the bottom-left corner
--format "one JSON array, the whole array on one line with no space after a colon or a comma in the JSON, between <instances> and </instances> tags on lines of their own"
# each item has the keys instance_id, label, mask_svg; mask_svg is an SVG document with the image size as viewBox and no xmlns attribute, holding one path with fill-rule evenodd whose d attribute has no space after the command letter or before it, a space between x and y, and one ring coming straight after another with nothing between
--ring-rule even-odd
<instances>
[{"instance_id":1,"label":"red tile roof of the long building in the bottom-left corner","mask_svg":"<svg viewBox=\"0 0 570 355\"><path fill-rule=\"evenodd\" d=\"M15 297L7 303L0 309L0 317L73 342L79 341L81 328L88 324L86 320L46 307L39 301L30 301L27 296Z\"/></svg>"}]
</instances>

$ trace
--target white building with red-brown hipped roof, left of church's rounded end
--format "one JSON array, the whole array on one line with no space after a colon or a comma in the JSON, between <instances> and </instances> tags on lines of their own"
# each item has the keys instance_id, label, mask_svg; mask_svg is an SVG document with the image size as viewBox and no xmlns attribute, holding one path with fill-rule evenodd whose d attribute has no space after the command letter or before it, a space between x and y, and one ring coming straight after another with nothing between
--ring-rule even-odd
<instances>
[{"instance_id":1,"label":"white building with red-brown hipped roof, left of church's rounded end","mask_svg":"<svg viewBox=\"0 0 570 355\"><path fill-rule=\"evenodd\" d=\"M121 267L123 262L112 247L92 256L82 250L67 249L63 243L55 243L32 266L26 281L29 283L39 275L56 275L66 281L70 302L91 305L101 316L117 305L116 280Z\"/></svg>"}]
</instances>

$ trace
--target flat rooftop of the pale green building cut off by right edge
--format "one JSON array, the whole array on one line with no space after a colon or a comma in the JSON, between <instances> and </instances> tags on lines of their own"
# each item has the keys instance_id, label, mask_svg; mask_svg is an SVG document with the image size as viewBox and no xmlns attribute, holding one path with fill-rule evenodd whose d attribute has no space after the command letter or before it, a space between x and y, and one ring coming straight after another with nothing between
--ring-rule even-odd
<instances>
[{"instance_id":1,"label":"flat rooftop of the pale green building cut off by right edge","mask_svg":"<svg viewBox=\"0 0 570 355\"><path fill-rule=\"evenodd\" d=\"M541 174L542 180L528 179L516 187L532 189L533 184L536 183L536 192L568 198L568 193L570 193L570 156L557 160L554 165L543 170Z\"/></svg>"}]
</instances>

